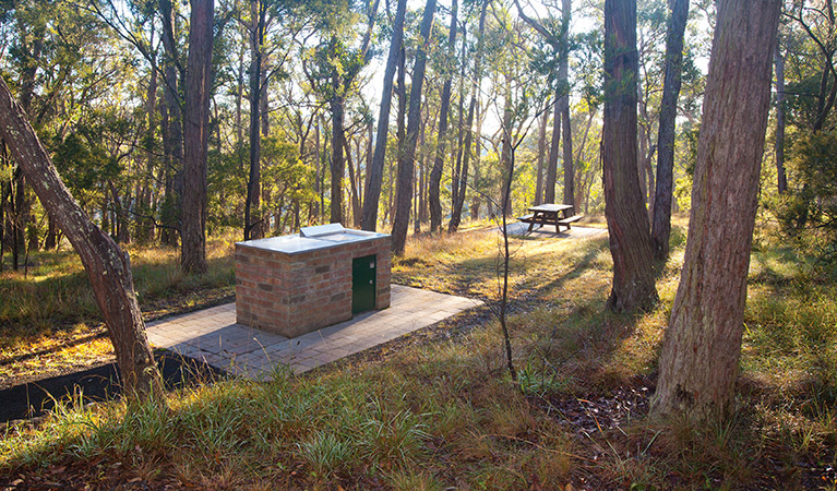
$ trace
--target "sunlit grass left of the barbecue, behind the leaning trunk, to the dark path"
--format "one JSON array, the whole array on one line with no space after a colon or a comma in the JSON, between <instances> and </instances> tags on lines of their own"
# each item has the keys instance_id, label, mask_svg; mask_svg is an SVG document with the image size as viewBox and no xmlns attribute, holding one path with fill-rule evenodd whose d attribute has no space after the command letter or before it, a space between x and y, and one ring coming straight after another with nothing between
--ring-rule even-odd
<instances>
[{"instance_id":1,"label":"sunlit grass left of the barbecue, behind the leaning trunk, to the dark path","mask_svg":"<svg viewBox=\"0 0 837 491\"><path fill-rule=\"evenodd\" d=\"M235 300L232 241L207 244L210 270L184 275L171 248L129 247L145 320ZM36 252L25 272L0 273L0 381L26 380L112 358L96 300L72 251ZM5 361L5 363L3 363ZM10 362L13 361L13 362Z\"/></svg>"}]
</instances>

